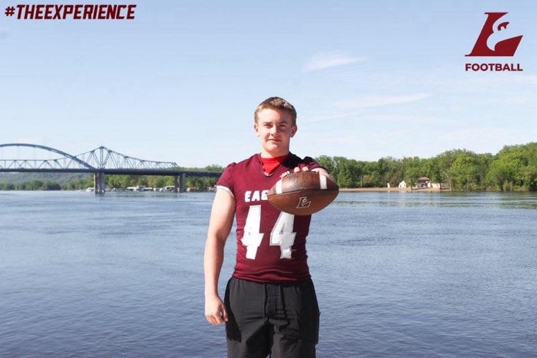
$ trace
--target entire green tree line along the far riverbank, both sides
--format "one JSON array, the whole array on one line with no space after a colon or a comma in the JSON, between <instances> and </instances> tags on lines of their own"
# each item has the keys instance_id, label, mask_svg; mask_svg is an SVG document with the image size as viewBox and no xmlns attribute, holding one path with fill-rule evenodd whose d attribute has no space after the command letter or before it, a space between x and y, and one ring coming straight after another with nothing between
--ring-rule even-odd
<instances>
[{"instance_id":1,"label":"entire green tree line along the far riverbank, both sides","mask_svg":"<svg viewBox=\"0 0 537 358\"><path fill-rule=\"evenodd\" d=\"M332 174L342 188L381 188L397 186L406 181L415 185L419 177L428 177L455 191L537 191L537 143L506 145L497 154L476 154L469 150L448 150L433 158L417 156L394 159L391 156L378 161L358 161L344 156L319 156L316 160ZM220 165L184 170L224 170ZM172 176L107 175L109 188L128 186L162 188L173 186ZM187 178L186 186L206 190L216 184L216 178ZM64 184L33 180L21 184L0 184L0 190L80 190L93 187L93 175Z\"/></svg>"}]
</instances>

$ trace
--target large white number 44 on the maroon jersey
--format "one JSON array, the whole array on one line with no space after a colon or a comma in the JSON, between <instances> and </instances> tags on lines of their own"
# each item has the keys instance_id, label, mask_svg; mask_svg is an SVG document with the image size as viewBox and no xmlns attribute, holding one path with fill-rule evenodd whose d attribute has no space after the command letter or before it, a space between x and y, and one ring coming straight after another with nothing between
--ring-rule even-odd
<instances>
[{"instance_id":1,"label":"large white number 44 on the maroon jersey","mask_svg":"<svg viewBox=\"0 0 537 358\"><path fill-rule=\"evenodd\" d=\"M282 252L280 258L291 258L291 247L295 242L296 233L293 233L293 222L295 215L280 213L277 217L276 224L271 232L270 244L279 246ZM248 209L246 224L244 224L244 235L242 244L246 246L246 258L255 260L257 248L261 245L263 233L260 233L261 227L261 205L251 205Z\"/></svg>"}]
</instances>

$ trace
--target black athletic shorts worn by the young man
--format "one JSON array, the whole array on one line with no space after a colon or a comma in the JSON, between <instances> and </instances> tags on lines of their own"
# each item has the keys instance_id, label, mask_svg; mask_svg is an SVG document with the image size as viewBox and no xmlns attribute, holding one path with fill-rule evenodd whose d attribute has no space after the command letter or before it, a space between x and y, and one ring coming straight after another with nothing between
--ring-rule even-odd
<instances>
[{"instance_id":1,"label":"black athletic shorts worn by the young man","mask_svg":"<svg viewBox=\"0 0 537 358\"><path fill-rule=\"evenodd\" d=\"M224 302L228 357L316 357L319 307L311 279L255 283L231 278Z\"/></svg>"}]
</instances>

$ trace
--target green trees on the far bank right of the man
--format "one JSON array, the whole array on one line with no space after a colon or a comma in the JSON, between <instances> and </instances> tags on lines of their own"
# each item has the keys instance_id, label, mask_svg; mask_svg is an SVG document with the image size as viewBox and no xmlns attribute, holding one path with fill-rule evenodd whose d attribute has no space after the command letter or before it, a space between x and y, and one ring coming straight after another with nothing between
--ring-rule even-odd
<instances>
[{"instance_id":1,"label":"green trees on the far bank right of the man","mask_svg":"<svg viewBox=\"0 0 537 358\"><path fill-rule=\"evenodd\" d=\"M320 156L342 188L415 185L419 177L442 183L455 191L536 191L537 143L506 145L493 155L469 150L448 150L433 158L392 157L357 161L343 156Z\"/></svg>"}]
</instances>

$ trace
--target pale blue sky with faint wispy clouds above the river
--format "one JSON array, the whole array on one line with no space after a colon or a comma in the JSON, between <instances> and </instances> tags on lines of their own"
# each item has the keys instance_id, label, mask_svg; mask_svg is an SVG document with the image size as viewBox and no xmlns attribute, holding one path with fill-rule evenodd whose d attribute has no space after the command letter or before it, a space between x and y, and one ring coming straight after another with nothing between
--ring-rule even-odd
<instances>
[{"instance_id":1,"label":"pale blue sky with faint wispy clouds above the river","mask_svg":"<svg viewBox=\"0 0 537 358\"><path fill-rule=\"evenodd\" d=\"M17 2L0 1L0 143L226 165L259 151L253 111L269 96L297 108L300 156L537 141L533 1L131 3L133 21L23 21L3 15ZM509 12L500 35L524 35L514 57L464 57L484 12ZM524 71L471 73L466 62Z\"/></svg>"}]
</instances>

